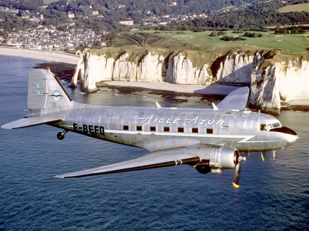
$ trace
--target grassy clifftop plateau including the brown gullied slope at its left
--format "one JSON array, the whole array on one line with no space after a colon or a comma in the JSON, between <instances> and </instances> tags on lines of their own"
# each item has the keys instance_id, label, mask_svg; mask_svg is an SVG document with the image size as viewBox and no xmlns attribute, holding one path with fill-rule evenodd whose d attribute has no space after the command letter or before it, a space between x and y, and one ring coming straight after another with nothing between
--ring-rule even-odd
<instances>
[{"instance_id":1,"label":"grassy clifftop plateau including the brown gullied slope at its left","mask_svg":"<svg viewBox=\"0 0 309 231\"><path fill-rule=\"evenodd\" d=\"M307 54L309 47L306 37L309 34L274 34L273 31L259 32L262 37L244 37L244 32L233 33L225 31L226 36L240 36L246 40L223 41L222 36L209 36L213 31L153 31L127 32L121 34L109 34L106 39L109 47L130 49L133 47L160 47L169 50L197 50L197 51L220 51L239 47L244 50L252 49L276 49L282 54L295 55ZM251 31L254 33L254 31Z\"/></svg>"}]
</instances>

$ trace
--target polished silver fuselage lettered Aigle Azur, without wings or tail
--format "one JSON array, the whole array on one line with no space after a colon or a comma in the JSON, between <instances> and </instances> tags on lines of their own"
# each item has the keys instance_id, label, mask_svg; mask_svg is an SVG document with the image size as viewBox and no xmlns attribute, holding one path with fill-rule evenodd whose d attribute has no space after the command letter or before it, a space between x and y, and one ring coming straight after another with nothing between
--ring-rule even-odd
<instances>
[{"instance_id":1,"label":"polished silver fuselage lettered Aigle Azur, without wings or tail","mask_svg":"<svg viewBox=\"0 0 309 231\"><path fill-rule=\"evenodd\" d=\"M261 131L279 122L252 111L194 108L109 107L81 103L53 112L63 121L50 124L67 131L157 151L220 142L239 151L266 151L293 144L297 136Z\"/></svg>"}]
</instances>

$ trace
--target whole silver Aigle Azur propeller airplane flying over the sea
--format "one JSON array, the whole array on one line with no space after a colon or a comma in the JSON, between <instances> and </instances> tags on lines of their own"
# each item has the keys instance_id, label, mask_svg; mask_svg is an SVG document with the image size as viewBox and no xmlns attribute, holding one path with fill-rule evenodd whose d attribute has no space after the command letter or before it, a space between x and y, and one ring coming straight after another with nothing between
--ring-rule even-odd
<instances>
[{"instance_id":1,"label":"whole silver Aigle Azur propeller airplane flying over the sea","mask_svg":"<svg viewBox=\"0 0 309 231\"><path fill-rule=\"evenodd\" d=\"M214 109L113 107L74 102L48 69L29 72L28 114L5 129L48 124L101 140L147 149L137 159L56 177L79 177L188 164L200 173L235 168L239 187L239 152L271 151L298 139L271 115L250 111L249 88L232 91Z\"/></svg>"}]
</instances>

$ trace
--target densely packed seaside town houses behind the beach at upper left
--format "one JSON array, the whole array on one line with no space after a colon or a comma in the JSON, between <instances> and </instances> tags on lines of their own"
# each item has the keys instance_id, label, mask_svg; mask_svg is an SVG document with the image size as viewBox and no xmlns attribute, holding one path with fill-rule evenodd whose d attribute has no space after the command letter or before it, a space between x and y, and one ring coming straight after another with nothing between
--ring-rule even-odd
<instances>
[{"instance_id":1,"label":"densely packed seaside town houses behind the beach at upper left","mask_svg":"<svg viewBox=\"0 0 309 231\"><path fill-rule=\"evenodd\" d=\"M19 13L18 10L10 10L6 7L0 7L0 10ZM37 23L38 26L28 30L10 32L6 38L0 37L0 46L62 52L76 51L78 47L106 46L106 43L101 43L101 35L95 34L95 31L70 28L75 25L74 22L67 26L66 31L60 31L56 29L56 26L42 25L42 14L36 17L31 15L29 10L25 10L23 15L25 15L23 18L27 18L32 23ZM68 18L74 17L72 15L74 14L69 12ZM0 21L3 22L4 20L4 18L0 18ZM105 31L105 33L107 32Z\"/></svg>"}]
</instances>

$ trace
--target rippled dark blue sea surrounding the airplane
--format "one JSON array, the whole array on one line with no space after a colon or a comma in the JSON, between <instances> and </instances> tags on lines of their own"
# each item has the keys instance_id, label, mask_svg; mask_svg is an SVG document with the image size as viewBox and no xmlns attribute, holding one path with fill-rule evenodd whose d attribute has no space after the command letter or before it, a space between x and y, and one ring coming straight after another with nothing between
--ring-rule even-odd
<instances>
[{"instance_id":1,"label":"rippled dark blue sea surrounding the airplane","mask_svg":"<svg viewBox=\"0 0 309 231\"><path fill-rule=\"evenodd\" d=\"M0 124L26 114L36 63L0 56ZM155 106L147 95L66 89L78 102ZM48 125L0 129L0 230L309 230L309 113L282 111L278 119L300 139L276 161L271 152L264 162L250 153L239 189L234 169L202 175L188 165L58 179L146 151L72 132L58 140L61 130Z\"/></svg>"}]
</instances>

